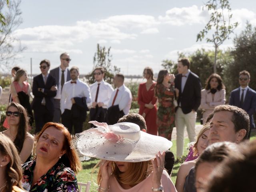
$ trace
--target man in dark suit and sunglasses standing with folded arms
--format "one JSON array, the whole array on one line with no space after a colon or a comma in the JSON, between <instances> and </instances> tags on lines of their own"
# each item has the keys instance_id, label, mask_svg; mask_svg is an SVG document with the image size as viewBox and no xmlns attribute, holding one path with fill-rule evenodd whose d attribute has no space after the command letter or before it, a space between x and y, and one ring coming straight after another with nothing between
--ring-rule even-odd
<instances>
[{"instance_id":1,"label":"man in dark suit and sunglasses standing with folded arms","mask_svg":"<svg viewBox=\"0 0 256 192\"><path fill-rule=\"evenodd\" d=\"M48 74L50 61L45 59L40 62L42 74L35 76L32 92L34 99L32 109L36 122L35 133L39 132L46 122L51 122L54 114L53 98L56 96L57 87L55 79Z\"/></svg>"}]
</instances>

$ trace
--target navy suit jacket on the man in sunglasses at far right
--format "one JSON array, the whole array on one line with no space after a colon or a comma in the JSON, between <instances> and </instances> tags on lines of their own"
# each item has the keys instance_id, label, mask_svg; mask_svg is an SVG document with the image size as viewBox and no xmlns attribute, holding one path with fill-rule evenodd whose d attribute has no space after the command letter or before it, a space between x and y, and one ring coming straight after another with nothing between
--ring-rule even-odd
<instances>
[{"instance_id":1,"label":"navy suit jacket on the man in sunglasses at far right","mask_svg":"<svg viewBox=\"0 0 256 192\"><path fill-rule=\"evenodd\" d=\"M250 116L250 128L255 128L253 114L256 111L256 92L253 89L248 87L242 106L240 105L240 88L232 90L229 104L245 110Z\"/></svg>"}]
</instances>

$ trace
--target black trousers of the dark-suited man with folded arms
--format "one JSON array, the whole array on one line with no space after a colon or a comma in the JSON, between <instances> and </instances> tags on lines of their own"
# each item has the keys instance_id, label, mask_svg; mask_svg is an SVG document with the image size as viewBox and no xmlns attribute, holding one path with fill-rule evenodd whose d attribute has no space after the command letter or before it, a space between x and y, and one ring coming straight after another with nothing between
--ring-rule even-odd
<instances>
[{"instance_id":1,"label":"black trousers of the dark-suited man with folded arms","mask_svg":"<svg viewBox=\"0 0 256 192\"><path fill-rule=\"evenodd\" d=\"M47 122L52 122L54 111L47 110L45 105L40 105L38 108L34 109L34 118L36 123L36 130L34 134L41 131L44 124Z\"/></svg>"}]
</instances>

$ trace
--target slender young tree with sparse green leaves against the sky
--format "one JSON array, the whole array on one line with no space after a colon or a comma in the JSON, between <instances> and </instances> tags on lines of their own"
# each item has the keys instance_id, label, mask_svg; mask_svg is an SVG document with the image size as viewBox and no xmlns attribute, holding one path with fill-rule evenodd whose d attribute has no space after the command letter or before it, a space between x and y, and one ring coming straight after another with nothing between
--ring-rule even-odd
<instances>
[{"instance_id":1,"label":"slender young tree with sparse green leaves against the sky","mask_svg":"<svg viewBox=\"0 0 256 192\"><path fill-rule=\"evenodd\" d=\"M230 24L232 14L228 0L208 0L204 7L206 7L208 11L211 12L210 20L208 21L204 29L197 34L196 41L202 41L206 34L208 34L208 32L212 32L212 37L206 38L206 41L214 43L215 54L213 71L214 73L216 73L218 47L228 38L228 36L238 26L238 22ZM225 16L225 10L228 11L228 16Z\"/></svg>"}]
</instances>

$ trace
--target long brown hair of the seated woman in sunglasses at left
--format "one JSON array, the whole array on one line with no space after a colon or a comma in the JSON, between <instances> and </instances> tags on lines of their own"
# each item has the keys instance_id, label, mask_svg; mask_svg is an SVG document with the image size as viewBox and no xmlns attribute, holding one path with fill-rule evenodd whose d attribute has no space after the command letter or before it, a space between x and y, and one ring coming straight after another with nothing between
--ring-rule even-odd
<instances>
[{"instance_id":1,"label":"long brown hair of the seated woman in sunglasses at left","mask_svg":"<svg viewBox=\"0 0 256 192\"><path fill-rule=\"evenodd\" d=\"M11 102L7 107L7 111L11 106L16 107L18 109L19 117L20 117L17 135L14 140L14 145L16 146L18 152L20 153L22 150L22 146L23 146L26 134L28 132L29 117L28 117L26 109L21 104Z\"/></svg>"}]
</instances>

